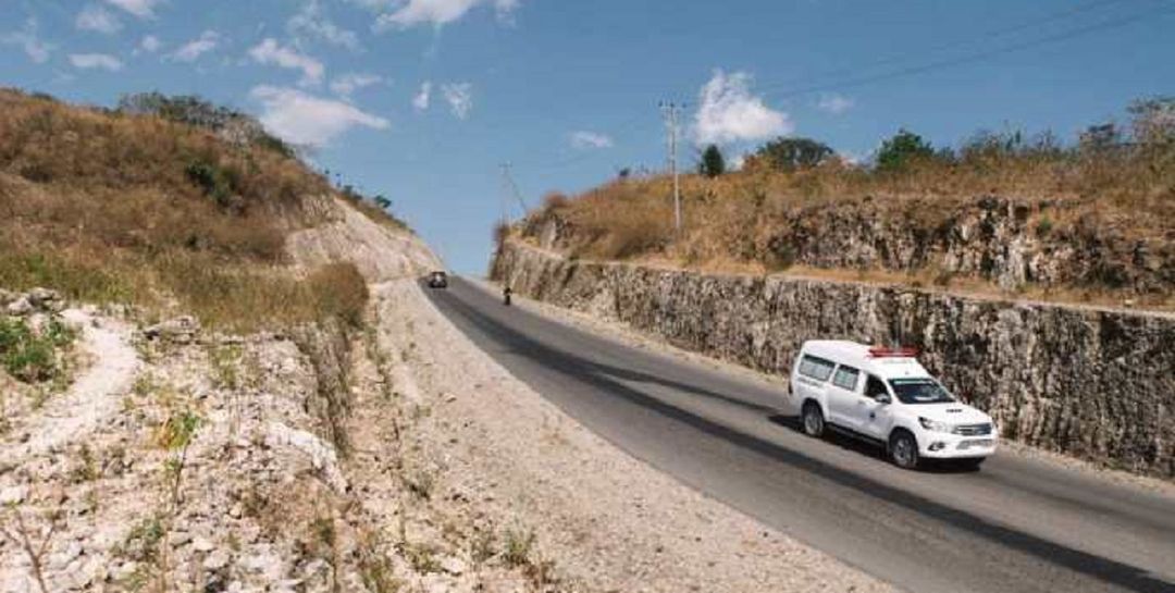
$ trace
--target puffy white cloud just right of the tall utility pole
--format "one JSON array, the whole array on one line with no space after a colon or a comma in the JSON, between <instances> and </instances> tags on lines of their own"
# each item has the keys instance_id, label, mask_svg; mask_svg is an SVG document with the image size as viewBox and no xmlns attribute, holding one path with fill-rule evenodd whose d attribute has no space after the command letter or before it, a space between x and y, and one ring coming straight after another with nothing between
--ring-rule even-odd
<instances>
[{"instance_id":1,"label":"puffy white cloud just right of the tall utility pole","mask_svg":"<svg viewBox=\"0 0 1175 593\"><path fill-rule=\"evenodd\" d=\"M790 134L795 126L786 113L767 107L751 94L752 78L745 72L714 76L701 87L693 122L698 144L728 144Z\"/></svg>"}]
</instances>

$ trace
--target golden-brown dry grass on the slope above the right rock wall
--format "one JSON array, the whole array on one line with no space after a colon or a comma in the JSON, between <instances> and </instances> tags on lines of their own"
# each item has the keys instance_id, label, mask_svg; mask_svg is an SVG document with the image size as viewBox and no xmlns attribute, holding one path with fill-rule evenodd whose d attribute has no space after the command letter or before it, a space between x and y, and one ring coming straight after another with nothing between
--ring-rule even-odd
<instances>
[{"instance_id":1,"label":"golden-brown dry grass on the slope above the right rock wall","mask_svg":"<svg viewBox=\"0 0 1175 593\"><path fill-rule=\"evenodd\" d=\"M1175 244L1173 144L1088 150L1041 141L1007 148L981 136L949 157L898 171L833 160L792 173L752 167L718 178L686 175L680 234L672 228L669 177L615 180L572 200L552 194L521 231L538 238L556 221L556 247L572 257L773 272L804 263L793 241L818 244L835 224L875 221L913 236L942 236L981 198L999 196L1023 207L1029 233L1047 249L1102 249L1130 265L1141 244L1168 261ZM933 270L874 271L921 277ZM1082 288L1123 288L1100 282L1090 276Z\"/></svg>"}]
</instances>

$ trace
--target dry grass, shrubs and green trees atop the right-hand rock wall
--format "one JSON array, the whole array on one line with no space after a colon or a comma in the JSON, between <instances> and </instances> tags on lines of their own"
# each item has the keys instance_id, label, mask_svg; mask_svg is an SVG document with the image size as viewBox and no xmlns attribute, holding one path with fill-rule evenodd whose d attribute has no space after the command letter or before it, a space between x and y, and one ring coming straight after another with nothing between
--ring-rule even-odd
<instances>
[{"instance_id":1,"label":"dry grass, shrubs and green trees atop the right-hand rock wall","mask_svg":"<svg viewBox=\"0 0 1175 593\"><path fill-rule=\"evenodd\" d=\"M933 250L960 241L960 220L998 198L1012 204L1018 233L1042 251L1076 250L1094 262L1075 289L1147 292L1162 301L1175 282L1175 99L1137 101L1127 115L1126 124L1092 126L1070 143L1013 129L938 147L902 129L867 163L818 140L781 137L727 171L721 151L709 147L698 174L682 178L680 233L673 228L672 180L629 175L575 198L551 194L517 230L538 241L553 224L557 240L546 247L580 258L748 272L840 268L861 277L934 282L944 272L926 258L901 268L841 267L810 251L848 224L860 227L858 238L875 243L871 249L901 248L880 245L877 229L905 229L912 249ZM498 230L497 238L505 234ZM1116 260L1095 261L1107 252ZM1132 267L1148 275L1146 282L1135 282Z\"/></svg>"}]
</instances>

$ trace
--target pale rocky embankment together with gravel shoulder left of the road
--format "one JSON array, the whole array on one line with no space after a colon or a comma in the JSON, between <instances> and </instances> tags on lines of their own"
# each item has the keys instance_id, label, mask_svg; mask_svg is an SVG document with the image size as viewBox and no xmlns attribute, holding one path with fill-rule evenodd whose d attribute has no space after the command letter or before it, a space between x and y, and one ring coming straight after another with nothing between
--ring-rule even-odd
<instances>
[{"instance_id":1,"label":"pale rocky embankment together with gravel shoulder left of the road","mask_svg":"<svg viewBox=\"0 0 1175 593\"><path fill-rule=\"evenodd\" d=\"M385 281L358 325L6 294L79 337L60 385L6 393L0 592L889 589L562 415L432 309L417 238L348 210L288 249Z\"/></svg>"}]
</instances>

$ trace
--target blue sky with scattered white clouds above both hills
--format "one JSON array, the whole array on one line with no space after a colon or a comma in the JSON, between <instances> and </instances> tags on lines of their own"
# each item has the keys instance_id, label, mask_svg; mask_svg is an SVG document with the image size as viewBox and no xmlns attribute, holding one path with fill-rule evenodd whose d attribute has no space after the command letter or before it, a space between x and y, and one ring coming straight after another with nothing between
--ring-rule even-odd
<instances>
[{"instance_id":1,"label":"blue sky with scattered white clouds above both hills","mask_svg":"<svg viewBox=\"0 0 1175 593\"><path fill-rule=\"evenodd\" d=\"M0 0L0 86L113 106L197 94L392 201L482 274L509 205L780 135L867 161L900 128L1124 119L1175 94L1173 0Z\"/></svg>"}]
</instances>

